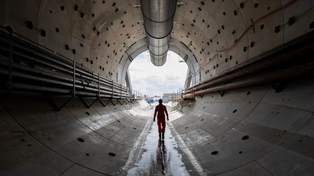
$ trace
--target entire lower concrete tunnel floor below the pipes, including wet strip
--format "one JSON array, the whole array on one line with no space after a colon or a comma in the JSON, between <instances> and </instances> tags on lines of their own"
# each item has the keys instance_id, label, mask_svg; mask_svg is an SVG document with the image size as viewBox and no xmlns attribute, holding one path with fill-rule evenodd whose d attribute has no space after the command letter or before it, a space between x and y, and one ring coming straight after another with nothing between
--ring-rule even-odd
<instances>
[{"instance_id":1,"label":"entire lower concrete tunnel floor below the pipes, including wet strip","mask_svg":"<svg viewBox=\"0 0 314 176\"><path fill-rule=\"evenodd\" d=\"M0 175L310 176L313 90L312 79L197 98L170 113L164 142L146 102L87 109L75 98L56 112L41 94L11 92L0 108Z\"/></svg>"}]
</instances>

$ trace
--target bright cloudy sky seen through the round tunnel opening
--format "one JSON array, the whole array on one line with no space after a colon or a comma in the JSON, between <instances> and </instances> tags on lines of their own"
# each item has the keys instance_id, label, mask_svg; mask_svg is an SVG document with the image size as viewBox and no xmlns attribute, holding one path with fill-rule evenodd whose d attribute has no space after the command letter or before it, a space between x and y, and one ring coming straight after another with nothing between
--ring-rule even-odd
<instances>
[{"instance_id":1,"label":"bright cloudy sky seen through the round tunnel opening","mask_svg":"<svg viewBox=\"0 0 314 176\"><path fill-rule=\"evenodd\" d=\"M161 97L182 88L187 77L187 64L179 59L183 61L179 55L168 51L166 63L157 67L150 61L149 53L139 54L129 66L132 89L143 96Z\"/></svg>"}]
</instances>

